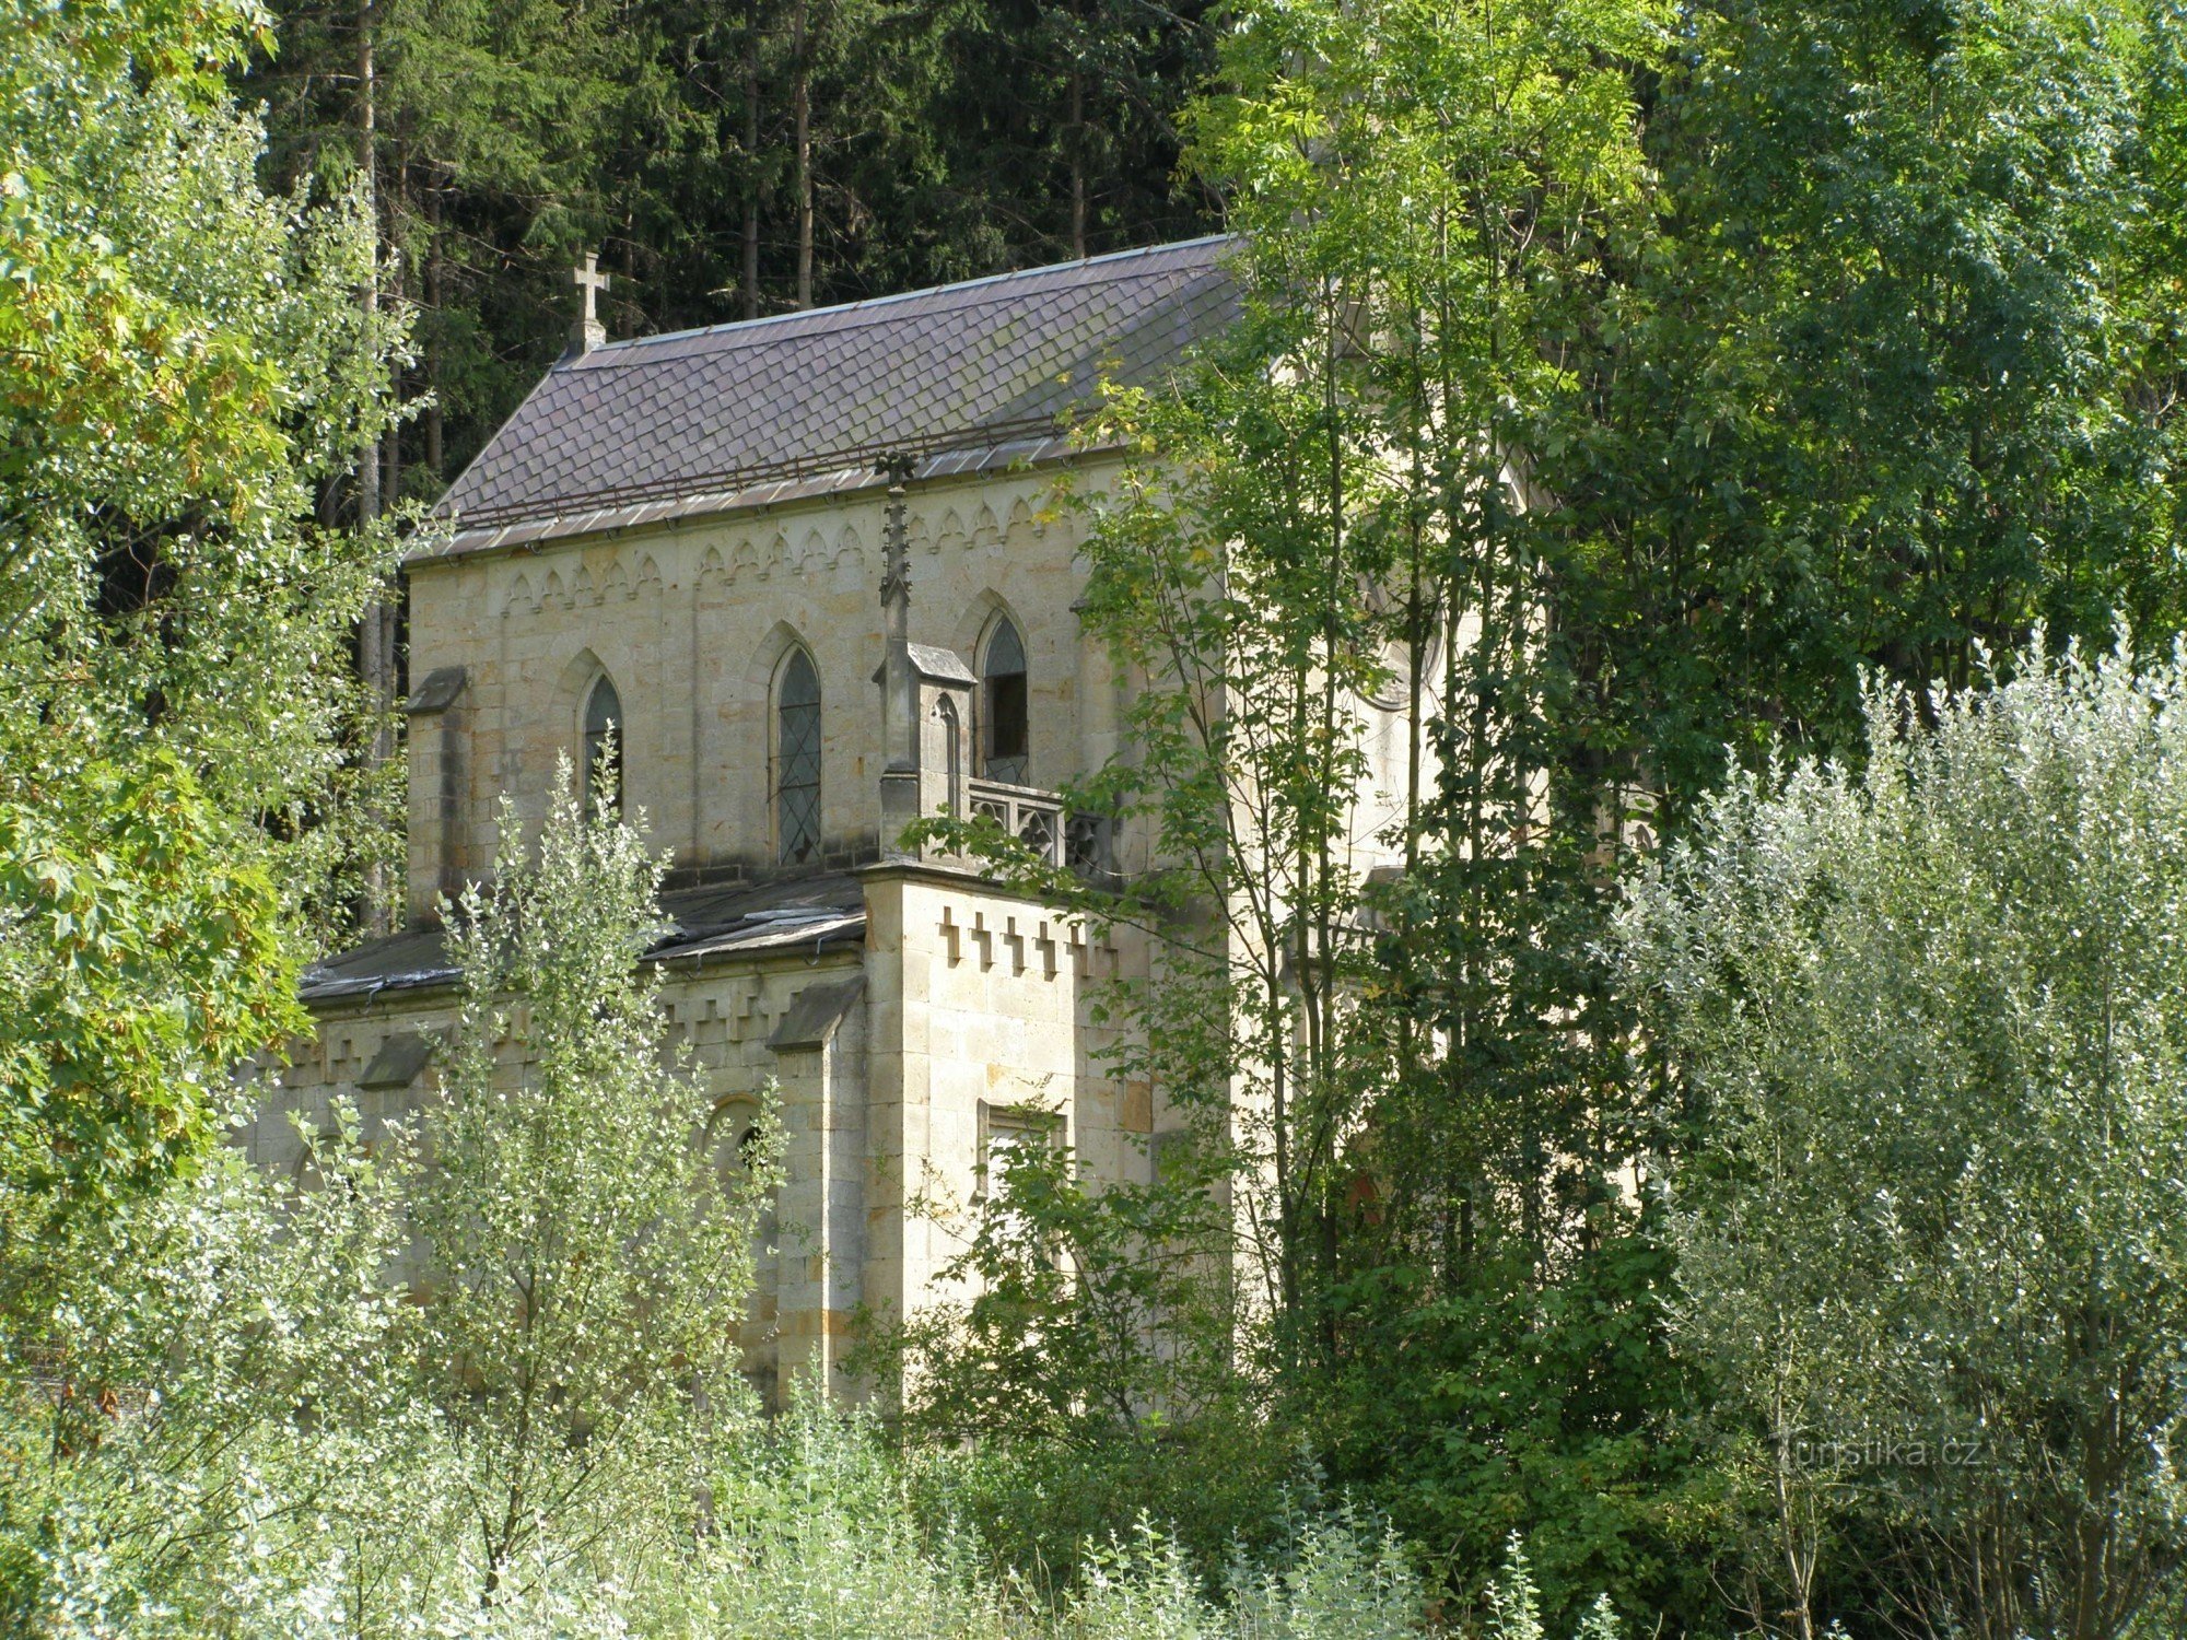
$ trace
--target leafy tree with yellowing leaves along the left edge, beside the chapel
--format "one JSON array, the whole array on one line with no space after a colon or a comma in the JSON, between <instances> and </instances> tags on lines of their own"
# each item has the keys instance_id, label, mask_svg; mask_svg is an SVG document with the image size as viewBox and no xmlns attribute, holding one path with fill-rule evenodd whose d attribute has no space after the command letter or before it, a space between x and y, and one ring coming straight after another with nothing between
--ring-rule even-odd
<instances>
[{"instance_id":1,"label":"leafy tree with yellowing leaves along the left edge, beside the chapel","mask_svg":"<svg viewBox=\"0 0 2187 1640\"><path fill-rule=\"evenodd\" d=\"M297 1023L387 544L311 527L385 422L346 206L254 181L247 7L0 9L0 1257L157 1187ZM20 1277L28 1264L11 1268Z\"/></svg>"}]
</instances>

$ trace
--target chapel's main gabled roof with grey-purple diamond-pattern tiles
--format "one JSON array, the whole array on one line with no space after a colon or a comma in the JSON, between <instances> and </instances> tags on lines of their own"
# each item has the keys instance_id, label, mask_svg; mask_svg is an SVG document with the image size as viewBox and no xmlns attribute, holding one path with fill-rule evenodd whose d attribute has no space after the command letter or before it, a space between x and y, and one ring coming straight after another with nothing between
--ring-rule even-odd
<instances>
[{"instance_id":1,"label":"chapel's main gabled roof with grey-purple diamond-pattern tiles","mask_svg":"<svg viewBox=\"0 0 2187 1640\"><path fill-rule=\"evenodd\" d=\"M881 455L949 472L1048 453L1104 376L1155 380L1231 319L1229 249L1155 245L566 356L442 512L464 549L866 483Z\"/></svg>"}]
</instances>

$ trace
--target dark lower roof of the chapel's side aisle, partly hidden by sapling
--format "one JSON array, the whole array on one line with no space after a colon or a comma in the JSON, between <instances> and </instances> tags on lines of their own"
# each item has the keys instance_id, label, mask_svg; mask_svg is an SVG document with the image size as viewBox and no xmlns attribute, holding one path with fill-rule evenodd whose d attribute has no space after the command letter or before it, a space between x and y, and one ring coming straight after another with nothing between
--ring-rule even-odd
<instances>
[{"instance_id":1,"label":"dark lower roof of the chapel's side aisle, partly hidden by sapling","mask_svg":"<svg viewBox=\"0 0 2187 1640\"><path fill-rule=\"evenodd\" d=\"M671 927L647 947L652 962L678 962L765 951L859 945L866 938L866 890L857 877L798 877L783 883L687 888L660 897ZM405 929L304 969L297 995L306 1006L372 999L383 991L453 986L464 971L448 960L442 929Z\"/></svg>"}]
</instances>

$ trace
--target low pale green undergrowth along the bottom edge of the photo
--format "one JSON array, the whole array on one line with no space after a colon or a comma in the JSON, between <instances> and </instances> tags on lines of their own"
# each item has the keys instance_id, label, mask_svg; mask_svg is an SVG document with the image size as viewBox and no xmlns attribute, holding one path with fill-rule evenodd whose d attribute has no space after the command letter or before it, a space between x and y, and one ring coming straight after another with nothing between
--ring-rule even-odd
<instances>
[{"instance_id":1,"label":"low pale green undergrowth along the bottom edge of the photo","mask_svg":"<svg viewBox=\"0 0 2187 1640\"><path fill-rule=\"evenodd\" d=\"M44 1408L9 1410L7 1441L22 1456ZM1045 1568L1050 1577L1006 1570L975 1531L921 1507L910 1478L921 1465L905 1465L873 1419L814 1395L779 1419L746 1421L695 1496L625 1496L590 1533L540 1533L501 1568L475 1553L477 1535L453 1507L459 1487L431 1445L367 1478L378 1496L352 1498L352 1513L313 1485L315 1459L330 1454L311 1450L308 1428L265 1434L243 1463L243 1491L221 1487L210 1467L199 1476L230 1496L195 1520L138 1511L142 1493L85 1485L81 1463L66 1498L15 1491L0 1570L9 1631L1376 1640L1417 1633L1430 1616L1404 1546L1343 1511L1301 1511L1260 1555L1240 1550L1227 1566L1196 1561L1142 1522L1089 1544L1078 1566ZM923 1467L932 1498L938 1476ZM24 1511L33 1502L46 1509ZM367 1515L374 1533L361 1537Z\"/></svg>"}]
</instances>

